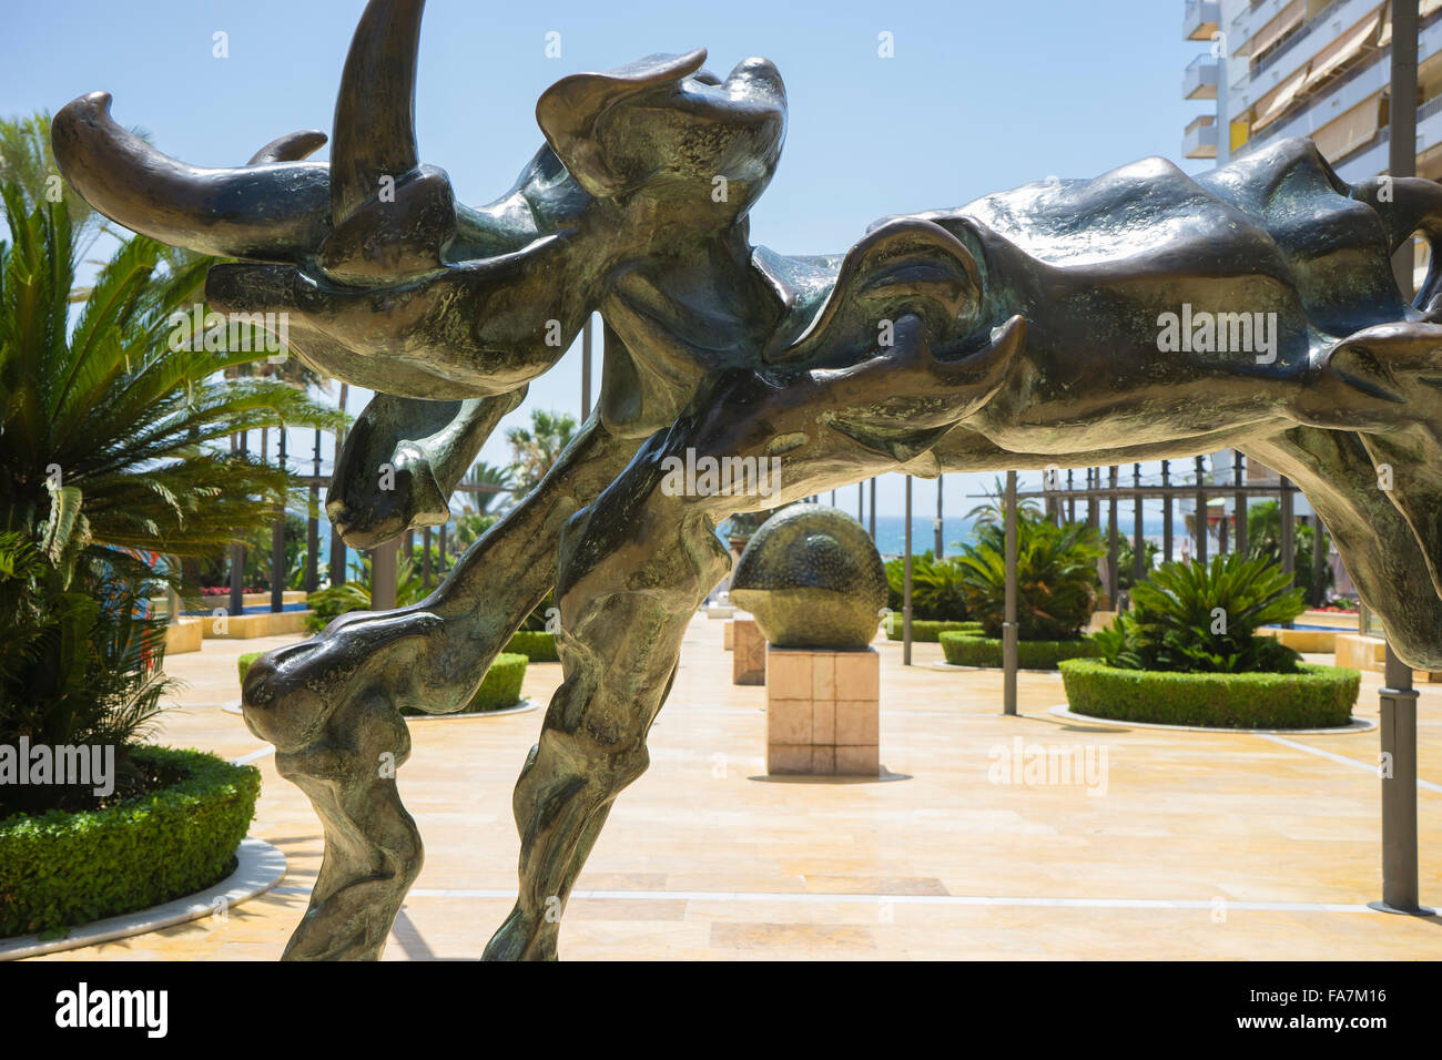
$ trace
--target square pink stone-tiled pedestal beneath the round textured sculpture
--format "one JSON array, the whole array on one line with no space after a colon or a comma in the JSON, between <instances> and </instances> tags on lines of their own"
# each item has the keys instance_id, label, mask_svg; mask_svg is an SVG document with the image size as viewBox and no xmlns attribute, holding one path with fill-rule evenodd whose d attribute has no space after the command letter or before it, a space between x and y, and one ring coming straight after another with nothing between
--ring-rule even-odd
<instances>
[{"instance_id":1,"label":"square pink stone-tiled pedestal beneath the round textured sculpture","mask_svg":"<svg viewBox=\"0 0 1442 1060\"><path fill-rule=\"evenodd\" d=\"M740 629L737 630L740 649ZM881 656L767 648L766 772L881 772Z\"/></svg>"}]
</instances>

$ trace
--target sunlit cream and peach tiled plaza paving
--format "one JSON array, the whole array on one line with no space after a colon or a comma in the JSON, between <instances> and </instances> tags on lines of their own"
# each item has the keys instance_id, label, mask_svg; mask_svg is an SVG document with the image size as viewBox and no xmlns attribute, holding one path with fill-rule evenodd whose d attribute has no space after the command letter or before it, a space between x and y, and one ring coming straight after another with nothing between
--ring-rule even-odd
<instances>
[{"instance_id":1,"label":"sunlit cream and peach tiled plaza paving","mask_svg":"<svg viewBox=\"0 0 1442 1060\"><path fill-rule=\"evenodd\" d=\"M48 960L274 960L320 867L310 805L236 714L235 658L294 637L206 640L157 743L254 761L251 835L288 870L224 920ZM1077 724L1056 675L937 671L937 645L881 652L883 777L766 776L766 689L731 684L722 623L698 616L650 738L577 883L561 956L594 959L1392 959L1442 956L1442 919L1380 897L1377 733L1253 736ZM1309 656L1330 662L1330 656ZM559 663L532 663L539 704ZM1360 717L1380 675L1363 675ZM1422 685L1422 900L1442 904L1442 685ZM401 792L425 868L388 960L473 959L509 911L510 789L542 711L411 725ZM1037 766L1047 760L1053 769ZM1070 776L1054 763L1079 766ZM1028 770L1027 766L1035 769Z\"/></svg>"}]
</instances>

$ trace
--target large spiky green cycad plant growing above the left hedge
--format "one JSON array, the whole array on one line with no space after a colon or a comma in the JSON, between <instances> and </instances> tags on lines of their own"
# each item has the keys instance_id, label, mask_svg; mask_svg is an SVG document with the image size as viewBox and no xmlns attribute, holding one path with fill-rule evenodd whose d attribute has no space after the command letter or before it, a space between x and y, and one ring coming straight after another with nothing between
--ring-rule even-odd
<instances>
[{"instance_id":1,"label":"large spiky green cycad plant growing above the left hedge","mask_svg":"<svg viewBox=\"0 0 1442 1060\"><path fill-rule=\"evenodd\" d=\"M0 195L0 743L123 744L159 699L163 640L140 614L179 564L154 561L215 554L287 495L304 503L283 469L218 443L342 417L280 382L224 378L264 343L173 349L209 262L150 239L120 247L72 319L66 203L13 182Z\"/></svg>"}]
</instances>

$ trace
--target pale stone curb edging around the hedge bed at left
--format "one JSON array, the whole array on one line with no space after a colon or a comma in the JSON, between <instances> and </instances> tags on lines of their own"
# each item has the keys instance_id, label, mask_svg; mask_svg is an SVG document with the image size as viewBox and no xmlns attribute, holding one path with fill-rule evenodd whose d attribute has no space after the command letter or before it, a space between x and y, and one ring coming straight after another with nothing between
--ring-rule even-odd
<instances>
[{"instance_id":1,"label":"pale stone curb edging around the hedge bed at left","mask_svg":"<svg viewBox=\"0 0 1442 1060\"><path fill-rule=\"evenodd\" d=\"M215 911L216 898L224 900L222 909L236 906L257 894L264 894L286 875L286 855L264 839L241 839L241 845L235 849L235 871L231 875L215 887L196 894L187 894L183 898L140 909L134 913L92 920L88 924L72 927L63 939L42 942L37 935L25 935L19 939L0 942L0 960L19 960L63 949L94 946L99 942L127 939L133 935L183 924L187 920L199 920Z\"/></svg>"}]
</instances>

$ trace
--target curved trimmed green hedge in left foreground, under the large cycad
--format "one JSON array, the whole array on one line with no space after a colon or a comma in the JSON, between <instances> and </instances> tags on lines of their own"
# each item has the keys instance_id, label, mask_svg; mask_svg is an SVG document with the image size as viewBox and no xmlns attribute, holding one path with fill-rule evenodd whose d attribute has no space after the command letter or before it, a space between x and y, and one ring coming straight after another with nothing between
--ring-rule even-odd
<instances>
[{"instance_id":1,"label":"curved trimmed green hedge in left foreground, under the large cycad","mask_svg":"<svg viewBox=\"0 0 1442 1060\"><path fill-rule=\"evenodd\" d=\"M104 809L0 821L0 937L149 909L234 871L260 770L172 747L134 747L130 756L177 779Z\"/></svg>"}]
</instances>

